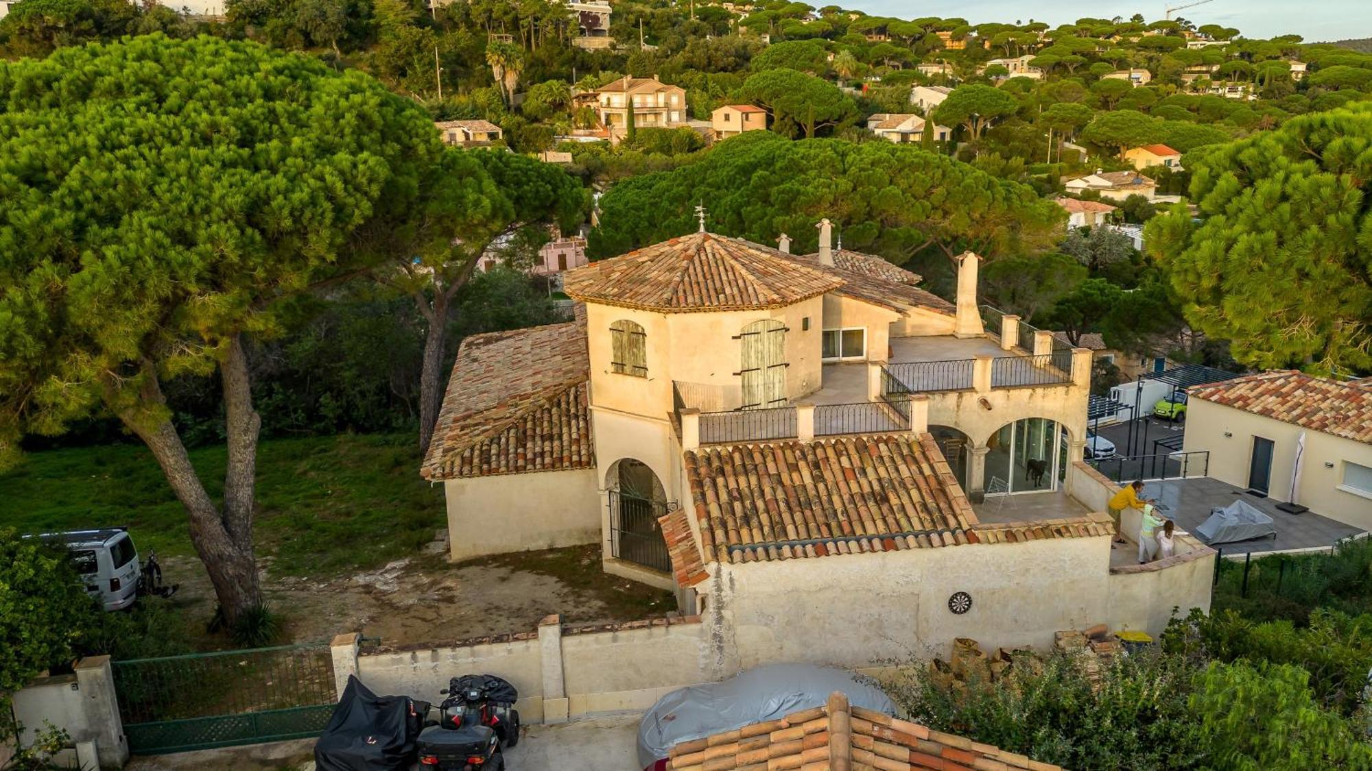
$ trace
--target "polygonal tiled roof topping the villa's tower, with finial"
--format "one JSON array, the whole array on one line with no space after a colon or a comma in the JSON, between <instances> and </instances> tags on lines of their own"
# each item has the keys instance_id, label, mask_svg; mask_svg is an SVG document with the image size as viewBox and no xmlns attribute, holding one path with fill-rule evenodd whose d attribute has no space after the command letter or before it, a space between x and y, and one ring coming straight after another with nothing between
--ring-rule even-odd
<instances>
[{"instance_id":1,"label":"polygonal tiled roof topping the villa's tower, with finial","mask_svg":"<svg viewBox=\"0 0 1372 771\"><path fill-rule=\"evenodd\" d=\"M586 302L686 313L782 307L842 285L842 278L777 259L781 252L693 233L593 262L565 274Z\"/></svg>"}]
</instances>

